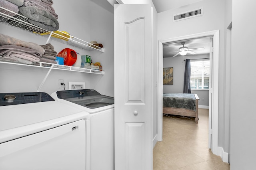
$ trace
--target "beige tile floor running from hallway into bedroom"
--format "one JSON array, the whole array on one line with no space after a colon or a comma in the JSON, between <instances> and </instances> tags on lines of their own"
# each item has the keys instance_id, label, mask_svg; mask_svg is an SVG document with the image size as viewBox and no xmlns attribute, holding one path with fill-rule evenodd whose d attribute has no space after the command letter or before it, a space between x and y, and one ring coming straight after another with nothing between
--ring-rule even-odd
<instances>
[{"instance_id":1,"label":"beige tile floor running from hallway into bedroom","mask_svg":"<svg viewBox=\"0 0 256 170\"><path fill-rule=\"evenodd\" d=\"M230 170L208 149L208 109L194 118L163 115L163 141L153 149L153 170Z\"/></svg>"}]
</instances>

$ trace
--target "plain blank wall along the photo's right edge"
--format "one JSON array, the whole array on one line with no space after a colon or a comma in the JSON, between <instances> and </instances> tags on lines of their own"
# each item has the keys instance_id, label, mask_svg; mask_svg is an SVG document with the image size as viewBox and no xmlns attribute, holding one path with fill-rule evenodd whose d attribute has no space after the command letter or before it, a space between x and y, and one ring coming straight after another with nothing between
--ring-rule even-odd
<instances>
[{"instance_id":1,"label":"plain blank wall along the photo's right edge","mask_svg":"<svg viewBox=\"0 0 256 170\"><path fill-rule=\"evenodd\" d=\"M252 170L256 167L256 91L255 63L248 45L256 46L256 2L232 2L232 46L230 77L230 169Z\"/></svg>"}]
</instances>

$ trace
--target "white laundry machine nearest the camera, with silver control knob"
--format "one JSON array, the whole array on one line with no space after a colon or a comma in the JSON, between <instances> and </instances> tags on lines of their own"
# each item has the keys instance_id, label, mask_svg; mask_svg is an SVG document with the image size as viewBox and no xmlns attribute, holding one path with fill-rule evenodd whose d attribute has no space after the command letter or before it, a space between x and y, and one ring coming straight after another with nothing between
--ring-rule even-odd
<instances>
[{"instance_id":1,"label":"white laundry machine nearest the camera, with silver control knob","mask_svg":"<svg viewBox=\"0 0 256 170\"><path fill-rule=\"evenodd\" d=\"M90 115L50 95L0 93L1 170L90 170Z\"/></svg>"}]
</instances>

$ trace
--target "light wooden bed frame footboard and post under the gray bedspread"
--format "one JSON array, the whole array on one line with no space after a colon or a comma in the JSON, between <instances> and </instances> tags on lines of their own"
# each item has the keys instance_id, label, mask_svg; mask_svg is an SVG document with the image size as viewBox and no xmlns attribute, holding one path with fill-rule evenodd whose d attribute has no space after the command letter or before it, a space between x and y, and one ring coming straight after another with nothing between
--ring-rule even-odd
<instances>
[{"instance_id":1,"label":"light wooden bed frame footboard and post under the gray bedspread","mask_svg":"<svg viewBox=\"0 0 256 170\"><path fill-rule=\"evenodd\" d=\"M189 109L182 109L182 108L174 108L174 107L163 107L164 114L170 115L179 115L179 116L187 116L187 117L194 117L196 124L198 123L198 100L199 97L197 94L194 94L196 97L196 111L189 110Z\"/></svg>"}]
</instances>

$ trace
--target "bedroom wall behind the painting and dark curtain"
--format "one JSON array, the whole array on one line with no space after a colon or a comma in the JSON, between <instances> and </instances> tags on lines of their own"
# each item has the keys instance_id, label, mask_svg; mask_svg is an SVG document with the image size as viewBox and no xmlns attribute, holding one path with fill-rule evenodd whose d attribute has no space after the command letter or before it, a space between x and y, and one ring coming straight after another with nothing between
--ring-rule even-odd
<instances>
[{"instance_id":1,"label":"bedroom wall behind the painting and dark curtain","mask_svg":"<svg viewBox=\"0 0 256 170\"><path fill-rule=\"evenodd\" d=\"M209 40L210 41L210 40ZM163 93L183 93L184 84L184 59L199 59L209 58L209 54L202 55L186 55L178 57L165 57L163 58L163 66L173 67L173 85L163 85ZM208 90L191 90L191 93L196 93L199 97L198 105L209 106L209 91Z\"/></svg>"}]
</instances>

